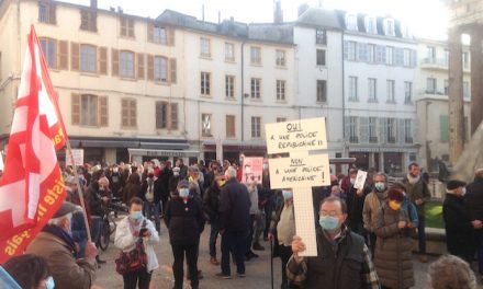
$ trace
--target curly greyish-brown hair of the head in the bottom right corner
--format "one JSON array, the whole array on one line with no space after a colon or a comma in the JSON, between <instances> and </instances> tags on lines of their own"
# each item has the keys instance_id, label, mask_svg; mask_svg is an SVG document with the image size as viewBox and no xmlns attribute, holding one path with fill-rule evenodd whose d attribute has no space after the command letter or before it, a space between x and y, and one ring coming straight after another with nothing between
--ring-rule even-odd
<instances>
[{"instance_id":1,"label":"curly greyish-brown hair of the head in the bottom right corner","mask_svg":"<svg viewBox=\"0 0 483 289\"><path fill-rule=\"evenodd\" d=\"M470 265L453 255L443 255L428 268L433 289L476 289L476 278Z\"/></svg>"}]
</instances>

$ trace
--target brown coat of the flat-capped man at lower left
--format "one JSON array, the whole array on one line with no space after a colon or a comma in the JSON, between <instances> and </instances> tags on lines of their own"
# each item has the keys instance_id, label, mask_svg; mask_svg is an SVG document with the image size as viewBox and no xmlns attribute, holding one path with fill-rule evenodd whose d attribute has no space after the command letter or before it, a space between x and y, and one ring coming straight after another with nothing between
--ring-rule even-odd
<instances>
[{"instance_id":1,"label":"brown coat of the flat-capped man at lower left","mask_svg":"<svg viewBox=\"0 0 483 289\"><path fill-rule=\"evenodd\" d=\"M90 289L94 284L96 259L77 261L67 243L52 233L40 232L25 253L47 259L55 288Z\"/></svg>"}]
</instances>

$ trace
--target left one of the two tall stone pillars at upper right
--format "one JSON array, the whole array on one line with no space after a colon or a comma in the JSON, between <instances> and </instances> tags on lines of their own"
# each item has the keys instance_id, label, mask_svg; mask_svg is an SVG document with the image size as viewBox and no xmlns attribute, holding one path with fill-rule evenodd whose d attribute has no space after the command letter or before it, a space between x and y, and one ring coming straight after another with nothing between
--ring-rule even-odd
<instances>
[{"instance_id":1,"label":"left one of the two tall stone pillars at upper right","mask_svg":"<svg viewBox=\"0 0 483 289\"><path fill-rule=\"evenodd\" d=\"M456 164L463 151L463 60L461 33L450 30L449 50L449 159Z\"/></svg>"}]
</instances>

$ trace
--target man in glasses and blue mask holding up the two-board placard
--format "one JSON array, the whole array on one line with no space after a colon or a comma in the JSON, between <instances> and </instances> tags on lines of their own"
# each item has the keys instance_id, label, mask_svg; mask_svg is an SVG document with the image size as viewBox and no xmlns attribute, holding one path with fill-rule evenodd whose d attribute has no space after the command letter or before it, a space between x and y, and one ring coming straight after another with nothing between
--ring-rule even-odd
<instances>
[{"instance_id":1,"label":"man in glasses and blue mask holding up the two-board placard","mask_svg":"<svg viewBox=\"0 0 483 289\"><path fill-rule=\"evenodd\" d=\"M337 197L323 200L316 228L317 256L302 257L305 244L293 236L293 255L287 264L287 277L305 289L379 289L379 278L362 236L351 232L346 203Z\"/></svg>"}]
</instances>

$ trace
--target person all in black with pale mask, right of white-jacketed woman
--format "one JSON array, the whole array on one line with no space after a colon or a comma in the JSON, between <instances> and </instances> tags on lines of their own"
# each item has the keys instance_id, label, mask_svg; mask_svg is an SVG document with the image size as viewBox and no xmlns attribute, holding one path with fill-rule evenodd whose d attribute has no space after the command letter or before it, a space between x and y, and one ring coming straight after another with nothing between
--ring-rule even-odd
<instances>
[{"instance_id":1,"label":"person all in black with pale mask, right of white-jacketed woman","mask_svg":"<svg viewBox=\"0 0 483 289\"><path fill-rule=\"evenodd\" d=\"M198 246L204 228L204 216L200 201L190 197L190 183L178 183L178 195L166 205L165 222L169 231L175 262L175 289L183 288L183 259L187 256L191 288L198 289Z\"/></svg>"}]
</instances>

